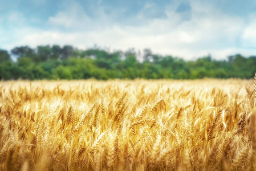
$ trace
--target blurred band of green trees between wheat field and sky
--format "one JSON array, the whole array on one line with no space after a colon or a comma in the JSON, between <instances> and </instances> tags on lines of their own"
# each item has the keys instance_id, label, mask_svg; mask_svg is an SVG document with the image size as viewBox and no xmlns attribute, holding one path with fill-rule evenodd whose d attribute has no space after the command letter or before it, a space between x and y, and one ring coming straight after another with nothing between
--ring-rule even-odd
<instances>
[{"instance_id":1,"label":"blurred band of green trees between wheat field and sky","mask_svg":"<svg viewBox=\"0 0 256 171\"><path fill-rule=\"evenodd\" d=\"M140 59L141 58L141 59ZM230 55L225 60L210 55L186 61L170 55L134 48L125 52L99 47L78 50L59 45L0 49L0 80L10 79L202 79L253 78L256 56Z\"/></svg>"}]
</instances>

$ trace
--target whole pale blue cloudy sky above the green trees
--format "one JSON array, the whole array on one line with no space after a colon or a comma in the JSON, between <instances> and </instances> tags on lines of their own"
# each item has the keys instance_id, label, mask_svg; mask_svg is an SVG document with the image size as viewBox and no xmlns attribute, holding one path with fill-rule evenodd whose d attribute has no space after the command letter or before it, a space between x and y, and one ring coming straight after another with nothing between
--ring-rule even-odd
<instances>
[{"instance_id":1,"label":"whole pale blue cloudy sky above the green trees","mask_svg":"<svg viewBox=\"0 0 256 171\"><path fill-rule=\"evenodd\" d=\"M190 60L256 55L255 0L0 0L0 48L95 44Z\"/></svg>"}]
</instances>

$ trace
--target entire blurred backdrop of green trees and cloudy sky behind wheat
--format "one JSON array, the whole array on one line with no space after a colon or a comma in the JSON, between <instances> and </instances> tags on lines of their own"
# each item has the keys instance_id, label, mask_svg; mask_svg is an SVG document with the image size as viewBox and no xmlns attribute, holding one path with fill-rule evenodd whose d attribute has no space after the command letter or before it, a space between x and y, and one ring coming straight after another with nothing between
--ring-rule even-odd
<instances>
[{"instance_id":1,"label":"entire blurred backdrop of green trees and cloudy sky behind wheat","mask_svg":"<svg viewBox=\"0 0 256 171\"><path fill-rule=\"evenodd\" d=\"M0 80L253 78L256 1L10 0Z\"/></svg>"}]
</instances>

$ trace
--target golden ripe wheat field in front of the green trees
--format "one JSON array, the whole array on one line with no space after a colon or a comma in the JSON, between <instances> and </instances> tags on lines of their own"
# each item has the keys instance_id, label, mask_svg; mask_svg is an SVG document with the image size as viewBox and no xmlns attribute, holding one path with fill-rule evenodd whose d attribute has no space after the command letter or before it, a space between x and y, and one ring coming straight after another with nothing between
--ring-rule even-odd
<instances>
[{"instance_id":1,"label":"golden ripe wheat field in front of the green trees","mask_svg":"<svg viewBox=\"0 0 256 171\"><path fill-rule=\"evenodd\" d=\"M253 80L0 82L0 170L256 170Z\"/></svg>"}]
</instances>

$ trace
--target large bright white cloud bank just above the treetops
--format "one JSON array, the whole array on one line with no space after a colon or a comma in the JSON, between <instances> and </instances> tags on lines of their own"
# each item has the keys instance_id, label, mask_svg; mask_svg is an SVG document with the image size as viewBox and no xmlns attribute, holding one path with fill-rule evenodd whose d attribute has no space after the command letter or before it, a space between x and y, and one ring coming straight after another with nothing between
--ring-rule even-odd
<instances>
[{"instance_id":1,"label":"large bright white cloud bank just above the treetops","mask_svg":"<svg viewBox=\"0 0 256 171\"><path fill-rule=\"evenodd\" d=\"M59 11L48 19L55 27L54 31L19 28L16 30L17 42L6 44L5 47L10 50L14 46L25 44L31 47L39 44L72 44L78 48L88 48L98 44L124 51L131 47L139 50L151 48L157 54L185 59L209 53L216 59L225 59L227 55L238 52L255 55L255 51L237 46L237 39L242 34L244 46L247 46L246 43L254 43L255 46L253 40L256 38L256 22L246 26L243 18L226 15L202 1L191 2L191 18L184 21L180 14L175 13L178 5L175 2L166 7L166 18L145 19L141 12L133 19L144 19L146 22L143 25L125 26L115 22L115 15L118 14L116 11L106 14L104 8L100 7L95 12L96 19L91 19L76 3L69 10ZM151 4L146 5L145 9L147 8L151 8ZM64 32L61 29L63 27L74 31Z\"/></svg>"}]
</instances>

